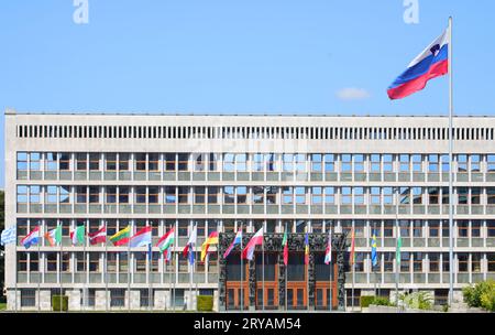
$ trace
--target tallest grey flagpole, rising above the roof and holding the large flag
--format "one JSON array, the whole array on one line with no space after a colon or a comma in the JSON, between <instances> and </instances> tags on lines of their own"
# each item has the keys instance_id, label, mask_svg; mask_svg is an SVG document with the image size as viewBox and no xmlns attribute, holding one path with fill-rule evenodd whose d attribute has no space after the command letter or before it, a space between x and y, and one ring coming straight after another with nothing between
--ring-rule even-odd
<instances>
[{"instance_id":1,"label":"tallest grey flagpole, rising above the roof and holding the large flag","mask_svg":"<svg viewBox=\"0 0 495 335\"><path fill-rule=\"evenodd\" d=\"M452 85L452 17L449 18L449 305L453 302L453 85Z\"/></svg>"}]
</instances>

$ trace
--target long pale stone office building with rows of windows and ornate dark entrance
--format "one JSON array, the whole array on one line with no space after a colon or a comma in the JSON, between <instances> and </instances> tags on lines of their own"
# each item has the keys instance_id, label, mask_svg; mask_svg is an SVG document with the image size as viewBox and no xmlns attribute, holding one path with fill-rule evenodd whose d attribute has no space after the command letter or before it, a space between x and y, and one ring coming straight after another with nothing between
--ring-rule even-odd
<instances>
[{"instance_id":1,"label":"long pale stone office building with rows of windows and ornate dark entrance","mask_svg":"<svg viewBox=\"0 0 495 335\"><path fill-rule=\"evenodd\" d=\"M211 295L217 311L349 310L364 295L394 299L396 270L400 292L428 291L444 304L450 269L461 300L462 288L495 279L495 118L454 118L453 194L448 126L447 117L7 110L6 227L18 236L6 246L8 309L51 310L62 292L76 311L196 310L198 295ZM44 235L57 226L62 245L52 247ZM76 226L85 241L74 246ZM109 238L89 244L101 227L110 237L128 226L152 227L151 256ZM26 249L21 240L36 227L42 238ZM190 266L182 251L193 227ZM241 262L239 246L223 258L238 230L245 246L262 227L252 261ZM166 262L155 245L172 228ZM201 261L212 231L220 242Z\"/></svg>"}]
</instances>

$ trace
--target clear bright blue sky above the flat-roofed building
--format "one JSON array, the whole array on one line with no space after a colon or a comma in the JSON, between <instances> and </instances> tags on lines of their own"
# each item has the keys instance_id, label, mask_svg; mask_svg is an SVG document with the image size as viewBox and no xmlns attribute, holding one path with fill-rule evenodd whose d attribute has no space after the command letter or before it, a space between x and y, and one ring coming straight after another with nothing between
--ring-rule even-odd
<instances>
[{"instance_id":1,"label":"clear bright blue sky above the flat-roofed building","mask_svg":"<svg viewBox=\"0 0 495 335\"><path fill-rule=\"evenodd\" d=\"M73 0L0 2L3 110L446 115L447 77L389 101L386 88L454 18L454 105L495 112L495 1ZM361 99L338 93L359 89ZM351 96L355 96L351 91ZM0 139L3 187L3 134Z\"/></svg>"}]
</instances>

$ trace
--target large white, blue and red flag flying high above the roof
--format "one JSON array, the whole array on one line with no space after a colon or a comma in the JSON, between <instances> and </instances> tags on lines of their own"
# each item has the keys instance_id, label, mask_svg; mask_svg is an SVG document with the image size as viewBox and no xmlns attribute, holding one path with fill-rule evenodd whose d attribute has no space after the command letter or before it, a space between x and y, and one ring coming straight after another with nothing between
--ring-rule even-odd
<instances>
[{"instance_id":1,"label":"large white, blue and red flag flying high above the roof","mask_svg":"<svg viewBox=\"0 0 495 335\"><path fill-rule=\"evenodd\" d=\"M417 56L388 87L391 99L402 99L427 85L428 80L449 73L449 30Z\"/></svg>"}]
</instances>

